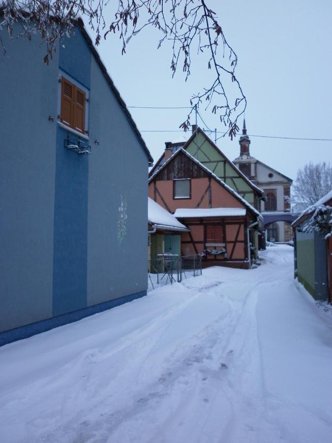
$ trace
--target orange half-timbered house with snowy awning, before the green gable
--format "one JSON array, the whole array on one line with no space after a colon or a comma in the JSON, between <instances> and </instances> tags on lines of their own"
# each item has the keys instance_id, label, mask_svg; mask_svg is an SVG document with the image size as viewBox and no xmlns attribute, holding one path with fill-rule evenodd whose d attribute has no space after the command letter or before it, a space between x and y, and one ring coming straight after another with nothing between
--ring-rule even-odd
<instances>
[{"instance_id":1,"label":"orange half-timbered house with snowy awning, before the green gable","mask_svg":"<svg viewBox=\"0 0 332 443\"><path fill-rule=\"evenodd\" d=\"M149 196L185 224L181 253L203 266L249 268L262 217L238 192L180 147L149 180Z\"/></svg>"}]
</instances>

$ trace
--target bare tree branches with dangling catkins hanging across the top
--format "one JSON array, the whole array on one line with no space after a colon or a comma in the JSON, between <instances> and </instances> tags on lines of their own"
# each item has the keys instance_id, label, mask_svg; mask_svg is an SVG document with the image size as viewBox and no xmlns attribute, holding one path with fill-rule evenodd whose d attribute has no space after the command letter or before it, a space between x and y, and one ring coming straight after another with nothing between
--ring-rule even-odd
<instances>
[{"instance_id":1,"label":"bare tree branches with dangling catkins hanging across the top","mask_svg":"<svg viewBox=\"0 0 332 443\"><path fill-rule=\"evenodd\" d=\"M114 13L109 24L105 18L107 9ZM245 110L246 99L235 75L238 57L206 0L0 0L0 17L0 30L5 28L11 37L17 24L18 36L30 39L33 33L40 33L46 44L45 63L52 59L56 41L74 32L79 17L87 18L96 45L101 38L118 34L122 55L134 35L148 27L156 28L162 33L158 47L165 40L172 44L173 76L181 65L188 79L192 51L206 53L207 69L214 71L211 84L192 95L191 110L180 127L186 131L194 109L204 104L206 110L219 115L231 139L239 131L237 121ZM5 52L1 37L0 45ZM234 101L227 88L232 83L238 91Z\"/></svg>"}]
</instances>

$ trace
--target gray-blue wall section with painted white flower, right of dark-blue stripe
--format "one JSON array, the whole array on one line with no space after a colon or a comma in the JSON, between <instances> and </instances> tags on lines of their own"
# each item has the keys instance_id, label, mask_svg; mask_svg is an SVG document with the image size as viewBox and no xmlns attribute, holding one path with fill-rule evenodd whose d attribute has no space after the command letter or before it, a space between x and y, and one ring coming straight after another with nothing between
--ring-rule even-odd
<instances>
[{"instance_id":1,"label":"gray-blue wall section with painted white flower, right of dark-blue stripe","mask_svg":"<svg viewBox=\"0 0 332 443\"><path fill-rule=\"evenodd\" d=\"M145 291L148 247L148 158L93 58L90 140L88 306ZM127 218L120 242L121 197Z\"/></svg>"}]
</instances>

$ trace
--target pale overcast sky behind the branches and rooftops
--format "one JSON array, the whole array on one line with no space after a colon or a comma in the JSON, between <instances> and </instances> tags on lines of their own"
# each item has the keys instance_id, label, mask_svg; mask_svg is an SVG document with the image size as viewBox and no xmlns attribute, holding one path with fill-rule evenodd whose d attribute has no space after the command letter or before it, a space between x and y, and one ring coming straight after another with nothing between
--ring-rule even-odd
<instances>
[{"instance_id":1,"label":"pale overcast sky behind the branches and rooftops","mask_svg":"<svg viewBox=\"0 0 332 443\"><path fill-rule=\"evenodd\" d=\"M248 134L332 139L332 1L207 0L217 13L228 42L239 58L237 78L247 98ZM121 56L121 43L111 35L98 51L127 106L189 106L202 87L206 59L193 57L191 76L172 79L171 47L157 50L159 32L146 29L133 37ZM165 141L187 140L179 130L186 110L130 109L154 160ZM200 109L205 124L223 131L211 110ZM191 119L195 123L194 116ZM241 119L242 124L242 119ZM174 132L146 132L163 130ZM218 134L220 136L220 134ZM214 139L214 134L211 135ZM217 141L231 159L239 155L239 138ZM332 162L331 141L251 137L250 153L292 179L312 161Z\"/></svg>"}]
</instances>

